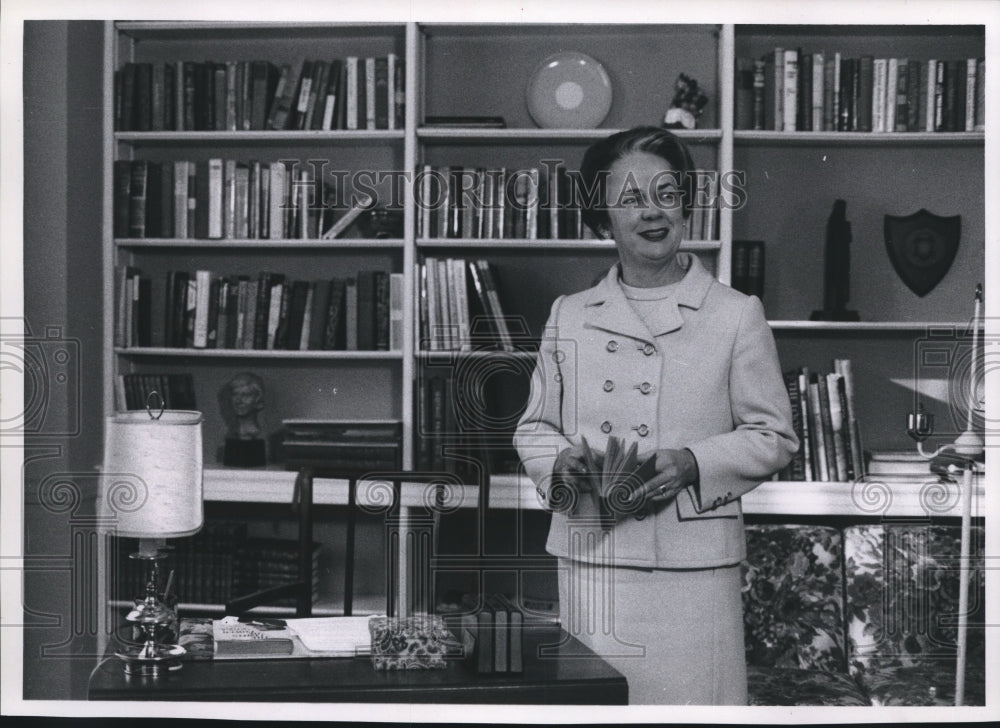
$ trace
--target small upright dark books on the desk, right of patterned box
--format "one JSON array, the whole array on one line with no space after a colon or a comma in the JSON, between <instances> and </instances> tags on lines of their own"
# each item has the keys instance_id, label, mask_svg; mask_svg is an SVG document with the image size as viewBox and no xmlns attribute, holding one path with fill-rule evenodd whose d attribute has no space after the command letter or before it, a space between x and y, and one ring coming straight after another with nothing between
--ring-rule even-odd
<instances>
[{"instance_id":1,"label":"small upright dark books on the desk, right of patterned box","mask_svg":"<svg viewBox=\"0 0 1000 728\"><path fill-rule=\"evenodd\" d=\"M462 643L479 673L524 670L524 613L503 594L488 595L462 618Z\"/></svg>"}]
</instances>

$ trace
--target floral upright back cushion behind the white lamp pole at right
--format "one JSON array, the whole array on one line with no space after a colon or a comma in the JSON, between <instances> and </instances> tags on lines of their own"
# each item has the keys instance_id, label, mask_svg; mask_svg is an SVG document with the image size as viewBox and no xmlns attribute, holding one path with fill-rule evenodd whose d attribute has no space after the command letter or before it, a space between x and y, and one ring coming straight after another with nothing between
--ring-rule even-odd
<instances>
[{"instance_id":1,"label":"floral upright back cushion behind the white lamp pole at right","mask_svg":"<svg viewBox=\"0 0 1000 728\"><path fill-rule=\"evenodd\" d=\"M978 674L985 672L983 628L976 626L984 618L983 543L983 529L972 529L967 664ZM949 665L954 675L959 555L960 529L955 527L880 524L845 529L848 669L856 679L868 685L878 675L878 684L884 686L886 675L896 668L946 673ZM923 694L935 687L940 696L948 682L954 677L943 685L927 682L913 690Z\"/></svg>"}]
</instances>

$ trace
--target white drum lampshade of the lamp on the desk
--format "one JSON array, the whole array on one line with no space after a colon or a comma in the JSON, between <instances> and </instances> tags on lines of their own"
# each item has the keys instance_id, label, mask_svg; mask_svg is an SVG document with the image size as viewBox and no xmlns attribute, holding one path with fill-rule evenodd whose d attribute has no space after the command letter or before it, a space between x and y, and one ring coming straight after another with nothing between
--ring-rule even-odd
<instances>
[{"instance_id":1,"label":"white drum lampshade of the lamp on the desk","mask_svg":"<svg viewBox=\"0 0 1000 728\"><path fill-rule=\"evenodd\" d=\"M99 514L119 536L178 538L201 529L201 412L119 412L105 421Z\"/></svg>"}]
</instances>

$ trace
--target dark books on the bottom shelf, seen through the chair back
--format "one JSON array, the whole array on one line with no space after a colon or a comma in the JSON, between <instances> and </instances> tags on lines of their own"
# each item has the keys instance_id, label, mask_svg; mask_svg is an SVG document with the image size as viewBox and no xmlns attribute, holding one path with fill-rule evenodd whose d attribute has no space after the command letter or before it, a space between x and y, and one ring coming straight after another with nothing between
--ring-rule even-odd
<instances>
[{"instance_id":1,"label":"dark books on the bottom shelf, seen through the chair back","mask_svg":"<svg viewBox=\"0 0 1000 728\"><path fill-rule=\"evenodd\" d=\"M319 599L320 545L312 544L312 601ZM299 580L298 541L281 538L249 538L236 553L234 596L246 596ZM295 598L276 599L271 605L289 607Z\"/></svg>"}]
</instances>

